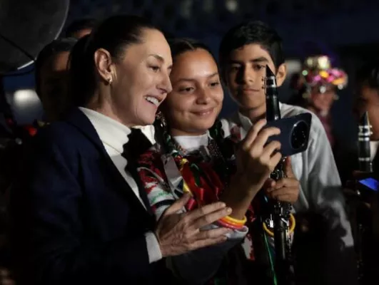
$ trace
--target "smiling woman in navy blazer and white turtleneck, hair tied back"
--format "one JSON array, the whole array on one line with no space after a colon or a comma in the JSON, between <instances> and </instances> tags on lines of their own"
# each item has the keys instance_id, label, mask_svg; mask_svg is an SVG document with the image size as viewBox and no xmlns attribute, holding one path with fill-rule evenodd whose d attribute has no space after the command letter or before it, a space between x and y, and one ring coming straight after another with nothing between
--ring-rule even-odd
<instances>
[{"instance_id":1,"label":"smiling woman in navy blazer and white turtleneck, hair tied back","mask_svg":"<svg viewBox=\"0 0 379 285\"><path fill-rule=\"evenodd\" d=\"M199 230L230 212L221 202L176 214L183 197L156 222L133 167L131 128L153 123L171 65L163 33L138 16L112 16L74 46L76 108L33 138L11 192L18 284L169 284L164 257L226 239Z\"/></svg>"}]
</instances>

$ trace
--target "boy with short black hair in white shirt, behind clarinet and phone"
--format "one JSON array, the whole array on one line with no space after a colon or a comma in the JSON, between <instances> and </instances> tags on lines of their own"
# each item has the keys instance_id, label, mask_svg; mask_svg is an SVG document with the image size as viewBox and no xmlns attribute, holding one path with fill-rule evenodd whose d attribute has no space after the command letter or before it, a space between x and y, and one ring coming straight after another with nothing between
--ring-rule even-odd
<instances>
[{"instance_id":1,"label":"boy with short black hair in white shirt, behind clarinet and phone","mask_svg":"<svg viewBox=\"0 0 379 285\"><path fill-rule=\"evenodd\" d=\"M266 24L249 21L226 33L219 56L221 75L231 97L238 104L238 113L222 120L223 130L226 136L233 134L243 139L254 123L266 117L266 95L263 89L266 66L276 73L278 86L285 80L286 67L281 38ZM308 112L304 108L283 103L280 108L282 118ZM332 240L331 236L335 241L332 242L333 247L330 247L333 249L333 259L337 256L338 259L342 258L340 254L345 256L346 252L350 252L348 256L351 257L353 237L345 213L340 177L323 125L313 113L308 149L293 155L291 163L295 177L300 181L300 195L293 205L294 212L321 214L328 221L328 244ZM328 254L328 259L329 255L331 254ZM351 271L353 258L351 261L346 262L350 264L347 265L349 269L346 266L329 268L328 279L332 277L331 279L341 281L344 274L349 275L346 270Z\"/></svg>"}]
</instances>

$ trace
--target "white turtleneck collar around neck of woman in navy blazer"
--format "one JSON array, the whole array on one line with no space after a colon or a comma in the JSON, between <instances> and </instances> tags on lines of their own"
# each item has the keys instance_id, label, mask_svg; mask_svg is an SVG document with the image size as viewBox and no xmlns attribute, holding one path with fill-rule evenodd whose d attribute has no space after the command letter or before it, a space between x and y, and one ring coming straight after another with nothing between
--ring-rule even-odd
<instances>
[{"instance_id":1,"label":"white turtleneck collar around neck of woman in navy blazer","mask_svg":"<svg viewBox=\"0 0 379 285\"><path fill-rule=\"evenodd\" d=\"M79 107L79 109L89 118L92 125L94 125L101 142L103 142L104 145L112 147L117 152L122 153L123 145L129 140L128 135L130 135L131 129L94 110L82 107Z\"/></svg>"}]
</instances>

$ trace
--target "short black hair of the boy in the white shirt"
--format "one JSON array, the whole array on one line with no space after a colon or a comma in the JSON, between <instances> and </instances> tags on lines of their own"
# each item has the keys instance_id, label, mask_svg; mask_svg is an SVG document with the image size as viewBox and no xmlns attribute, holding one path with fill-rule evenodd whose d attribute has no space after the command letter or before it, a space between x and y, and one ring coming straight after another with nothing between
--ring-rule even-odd
<instances>
[{"instance_id":1,"label":"short black hair of the boy in the white shirt","mask_svg":"<svg viewBox=\"0 0 379 285\"><path fill-rule=\"evenodd\" d=\"M219 49L221 68L225 68L232 51L251 43L259 44L268 51L276 69L284 63L282 39L276 30L261 21L248 21L234 26L223 37Z\"/></svg>"}]
</instances>

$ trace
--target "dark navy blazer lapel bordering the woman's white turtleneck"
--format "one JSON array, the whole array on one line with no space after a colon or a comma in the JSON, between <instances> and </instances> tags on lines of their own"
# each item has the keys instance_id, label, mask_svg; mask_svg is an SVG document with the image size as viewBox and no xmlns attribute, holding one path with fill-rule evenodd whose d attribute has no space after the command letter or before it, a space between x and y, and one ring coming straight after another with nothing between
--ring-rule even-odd
<instances>
[{"instance_id":1,"label":"dark navy blazer lapel bordering the woman's white turtleneck","mask_svg":"<svg viewBox=\"0 0 379 285\"><path fill-rule=\"evenodd\" d=\"M101 142L100 138L98 137L98 134L96 133L96 130L94 126L91 124L89 118L87 118L86 115L84 115L84 113L81 112L81 110L75 109L66 118L66 122L70 123L71 125L74 125L74 127L76 127L87 139L91 140L91 142L94 143L94 145L96 145L96 148L101 153L106 162L105 168L106 170L108 170L108 173L106 173L106 175L110 175L111 179L114 181L114 185L118 186L115 190L120 192L121 195L126 196L126 199L128 199L128 201L133 202L136 208L142 210L144 213L148 214L148 216L151 216L151 209L148 209L148 211L146 211L145 207L143 207L140 200L133 193L133 190L131 189L130 185L128 185L128 182L126 182L126 180L122 177L121 173L118 171L116 165L114 165L113 161L111 160L111 157L109 157L108 153L106 152L106 149L103 146L103 142ZM139 178L135 177L135 175L133 174L132 176L134 180L136 180L138 187L141 187Z\"/></svg>"}]
</instances>

